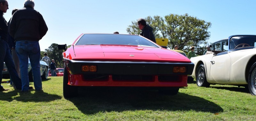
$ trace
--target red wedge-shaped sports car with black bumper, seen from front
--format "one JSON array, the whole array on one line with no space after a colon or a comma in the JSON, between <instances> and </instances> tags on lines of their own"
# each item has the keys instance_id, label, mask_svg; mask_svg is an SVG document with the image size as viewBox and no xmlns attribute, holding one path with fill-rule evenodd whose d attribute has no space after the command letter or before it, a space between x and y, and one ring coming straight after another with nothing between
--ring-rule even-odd
<instances>
[{"instance_id":1,"label":"red wedge-shaped sports car with black bumper, seen from front","mask_svg":"<svg viewBox=\"0 0 256 121\"><path fill-rule=\"evenodd\" d=\"M79 86L154 87L175 95L187 87L194 64L140 35L81 34L64 49L63 95L77 96Z\"/></svg>"}]
</instances>

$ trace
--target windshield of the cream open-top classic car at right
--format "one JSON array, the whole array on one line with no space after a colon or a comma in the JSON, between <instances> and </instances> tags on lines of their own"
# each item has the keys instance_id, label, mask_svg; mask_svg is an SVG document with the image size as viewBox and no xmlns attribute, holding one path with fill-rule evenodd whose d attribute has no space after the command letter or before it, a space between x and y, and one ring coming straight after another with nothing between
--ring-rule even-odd
<instances>
[{"instance_id":1,"label":"windshield of the cream open-top classic car at right","mask_svg":"<svg viewBox=\"0 0 256 121\"><path fill-rule=\"evenodd\" d=\"M256 36L235 36L230 38L229 49L256 47Z\"/></svg>"}]
</instances>

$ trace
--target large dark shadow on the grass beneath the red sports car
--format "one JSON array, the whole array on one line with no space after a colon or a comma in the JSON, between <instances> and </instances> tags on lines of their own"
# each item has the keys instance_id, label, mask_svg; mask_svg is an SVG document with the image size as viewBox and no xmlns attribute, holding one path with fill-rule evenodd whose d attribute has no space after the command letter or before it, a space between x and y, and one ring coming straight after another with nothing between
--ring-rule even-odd
<instances>
[{"instance_id":1,"label":"large dark shadow on the grass beneath the red sports car","mask_svg":"<svg viewBox=\"0 0 256 121\"><path fill-rule=\"evenodd\" d=\"M217 104L184 93L164 95L157 90L79 89L79 97L69 98L84 114L126 110L196 110L217 113L223 109Z\"/></svg>"}]
</instances>

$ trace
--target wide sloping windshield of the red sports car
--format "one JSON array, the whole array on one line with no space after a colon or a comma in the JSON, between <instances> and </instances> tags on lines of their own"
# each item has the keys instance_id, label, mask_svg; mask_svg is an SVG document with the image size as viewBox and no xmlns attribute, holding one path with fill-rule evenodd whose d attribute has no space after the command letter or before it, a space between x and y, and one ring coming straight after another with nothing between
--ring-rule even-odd
<instances>
[{"instance_id":1,"label":"wide sloping windshield of the red sports car","mask_svg":"<svg viewBox=\"0 0 256 121\"><path fill-rule=\"evenodd\" d=\"M135 45L159 48L154 42L138 35L84 34L76 45Z\"/></svg>"}]
</instances>

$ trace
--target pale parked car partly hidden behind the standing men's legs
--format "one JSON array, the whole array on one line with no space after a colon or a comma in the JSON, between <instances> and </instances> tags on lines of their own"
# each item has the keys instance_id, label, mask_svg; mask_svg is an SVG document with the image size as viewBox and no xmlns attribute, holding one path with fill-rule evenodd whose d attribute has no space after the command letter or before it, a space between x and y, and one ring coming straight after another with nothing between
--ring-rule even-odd
<instances>
[{"instance_id":1,"label":"pale parked car partly hidden behind the standing men's legs","mask_svg":"<svg viewBox=\"0 0 256 121\"><path fill-rule=\"evenodd\" d=\"M47 75L46 75L47 69L48 69L48 65L44 61L40 61L41 79L47 79ZM4 69L3 69L2 73L3 73L3 79L10 79L10 74L9 74L8 68L6 67L5 63L4 63ZM29 79L29 81L34 81L30 61L28 61L28 79Z\"/></svg>"}]
</instances>

